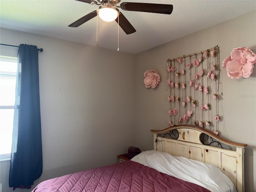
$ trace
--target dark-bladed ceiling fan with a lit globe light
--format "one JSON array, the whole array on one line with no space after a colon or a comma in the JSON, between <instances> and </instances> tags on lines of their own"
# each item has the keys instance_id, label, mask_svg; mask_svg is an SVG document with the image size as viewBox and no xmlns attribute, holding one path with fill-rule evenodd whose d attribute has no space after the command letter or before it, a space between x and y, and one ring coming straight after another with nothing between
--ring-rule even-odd
<instances>
[{"instance_id":1,"label":"dark-bladed ceiling fan with a lit globe light","mask_svg":"<svg viewBox=\"0 0 256 192\"><path fill-rule=\"evenodd\" d=\"M100 16L102 20L113 21L116 20L118 23L119 15L119 26L124 30L126 34L132 34L136 32L132 24L126 19L126 17L118 10L121 8L125 11L139 11L139 12L150 12L150 13L160 13L160 14L171 14L173 10L172 5L168 4L152 4L152 3L134 3L134 2L123 2L118 6L117 4L121 0L77 0L80 2L85 2L88 4L100 5L98 10L90 12L89 14L78 19L74 23L70 24L69 27L78 27L88 20L97 16ZM113 14L112 18L108 18Z\"/></svg>"}]
</instances>

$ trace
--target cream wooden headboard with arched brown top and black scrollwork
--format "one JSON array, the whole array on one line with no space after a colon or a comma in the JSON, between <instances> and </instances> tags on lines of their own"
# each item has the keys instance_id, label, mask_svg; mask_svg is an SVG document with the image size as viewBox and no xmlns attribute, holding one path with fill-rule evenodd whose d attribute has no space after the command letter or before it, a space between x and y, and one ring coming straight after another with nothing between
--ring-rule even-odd
<instances>
[{"instance_id":1,"label":"cream wooden headboard with arched brown top and black scrollwork","mask_svg":"<svg viewBox=\"0 0 256 192\"><path fill-rule=\"evenodd\" d=\"M244 147L247 144L225 140L192 125L151 131L154 133L154 150L215 165L230 178L238 192L244 192Z\"/></svg>"}]
</instances>

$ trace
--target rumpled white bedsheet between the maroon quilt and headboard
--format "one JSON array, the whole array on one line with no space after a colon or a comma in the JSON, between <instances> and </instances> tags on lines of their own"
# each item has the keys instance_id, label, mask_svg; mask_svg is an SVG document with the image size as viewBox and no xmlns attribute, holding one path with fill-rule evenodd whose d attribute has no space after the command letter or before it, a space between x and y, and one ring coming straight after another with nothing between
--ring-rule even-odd
<instances>
[{"instance_id":1,"label":"rumpled white bedsheet between the maroon quilt and headboard","mask_svg":"<svg viewBox=\"0 0 256 192\"><path fill-rule=\"evenodd\" d=\"M142 152L132 161L198 184L211 192L236 192L232 181L218 167L210 164L154 150Z\"/></svg>"}]
</instances>

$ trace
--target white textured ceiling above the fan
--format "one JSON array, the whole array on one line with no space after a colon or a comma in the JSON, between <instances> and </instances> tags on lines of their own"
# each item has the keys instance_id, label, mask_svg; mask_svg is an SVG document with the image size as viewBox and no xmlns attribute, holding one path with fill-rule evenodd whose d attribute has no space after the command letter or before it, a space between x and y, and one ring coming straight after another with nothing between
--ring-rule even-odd
<instances>
[{"instance_id":1,"label":"white textured ceiling above the fan","mask_svg":"<svg viewBox=\"0 0 256 192\"><path fill-rule=\"evenodd\" d=\"M122 52L132 54L256 10L256 0L121 0L120 3L122 2L172 4L174 7L170 15L120 9L136 32L127 35L120 28L119 48ZM75 0L0 0L0 27L94 46L96 17L78 28L68 25L97 8L97 5ZM98 19L98 46L117 50L118 24L115 21L103 22Z\"/></svg>"}]
</instances>

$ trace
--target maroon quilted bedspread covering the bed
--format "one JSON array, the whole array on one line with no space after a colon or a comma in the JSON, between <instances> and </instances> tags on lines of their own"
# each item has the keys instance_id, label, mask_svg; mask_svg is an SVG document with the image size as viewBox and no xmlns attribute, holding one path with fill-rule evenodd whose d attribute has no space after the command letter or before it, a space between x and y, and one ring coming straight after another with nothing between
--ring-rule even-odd
<instances>
[{"instance_id":1,"label":"maroon quilted bedspread covering the bed","mask_svg":"<svg viewBox=\"0 0 256 192\"><path fill-rule=\"evenodd\" d=\"M133 161L41 182L32 192L209 192Z\"/></svg>"}]
</instances>

